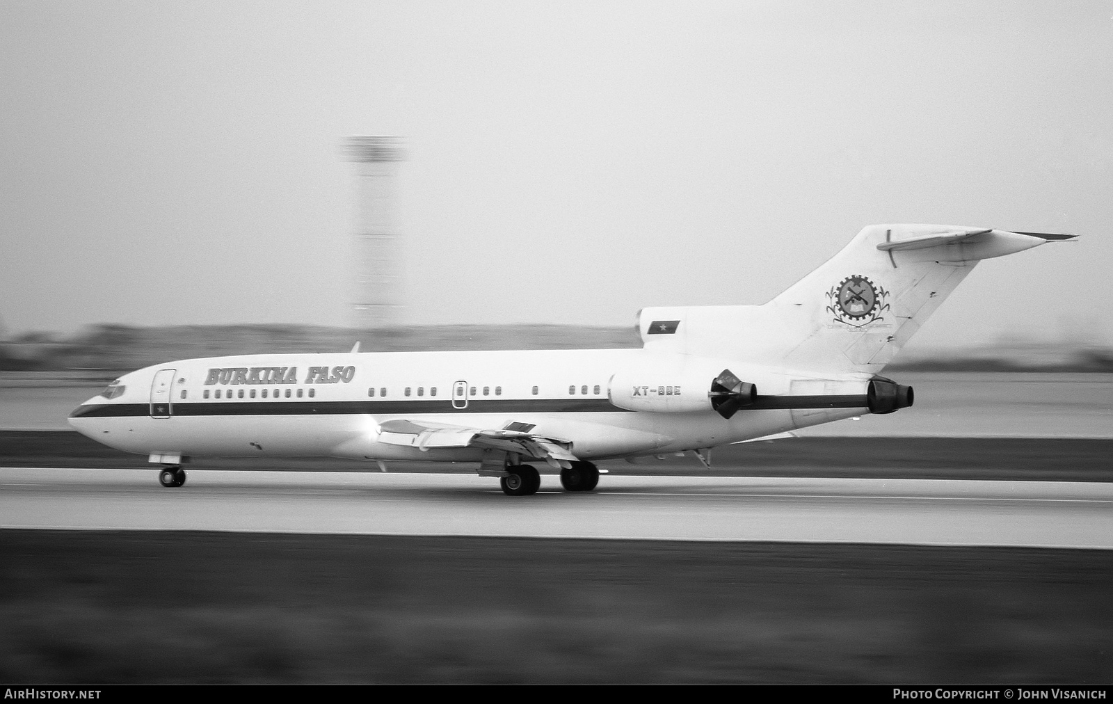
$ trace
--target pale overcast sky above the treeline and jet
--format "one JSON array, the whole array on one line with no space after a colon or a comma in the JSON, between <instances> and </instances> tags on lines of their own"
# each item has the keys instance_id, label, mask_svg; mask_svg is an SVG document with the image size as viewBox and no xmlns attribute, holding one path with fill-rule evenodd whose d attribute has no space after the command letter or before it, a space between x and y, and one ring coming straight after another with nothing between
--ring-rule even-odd
<instances>
[{"instance_id":1,"label":"pale overcast sky above the treeline and jet","mask_svg":"<svg viewBox=\"0 0 1113 704\"><path fill-rule=\"evenodd\" d=\"M1082 239L917 342L1113 330L1113 3L1063 0L0 0L0 320L346 324L354 134L412 323L762 303L925 222Z\"/></svg>"}]
</instances>

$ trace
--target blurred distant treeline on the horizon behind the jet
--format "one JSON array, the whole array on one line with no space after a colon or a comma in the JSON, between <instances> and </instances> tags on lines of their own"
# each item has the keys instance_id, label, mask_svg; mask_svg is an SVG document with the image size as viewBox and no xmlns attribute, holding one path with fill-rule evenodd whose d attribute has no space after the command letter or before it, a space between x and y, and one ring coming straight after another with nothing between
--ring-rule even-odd
<instances>
[{"instance_id":1,"label":"blurred distant treeline on the horizon behind the jet","mask_svg":"<svg viewBox=\"0 0 1113 704\"><path fill-rule=\"evenodd\" d=\"M594 350L640 348L632 327L584 325L429 325L353 330L308 325L96 325L63 338L29 333L0 342L0 371L87 370L116 375L170 360L226 354L420 350ZM899 358L898 358L899 359ZM1113 349L1080 348L1037 354L1021 349L956 352L899 360L906 371L1113 372Z\"/></svg>"}]
</instances>

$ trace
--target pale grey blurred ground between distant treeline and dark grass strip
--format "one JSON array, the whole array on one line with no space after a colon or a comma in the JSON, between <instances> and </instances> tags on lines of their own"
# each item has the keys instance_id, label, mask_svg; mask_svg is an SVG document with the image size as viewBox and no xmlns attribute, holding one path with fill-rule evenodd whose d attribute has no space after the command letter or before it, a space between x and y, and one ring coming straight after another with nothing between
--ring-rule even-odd
<instances>
[{"instance_id":1,"label":"pale grey blurred ground between distant treeline and dark grass strip","mask_svg":"<svg viewBox=\"0 0 1113 704\"><path fill-rule=\"evenodd\" d=\"M1113 438L1113 374L893 372L916 404L801 437ZM63 430L104 388L81 372L0 372L0 430Z\"/></svg>"}]
</instances>

